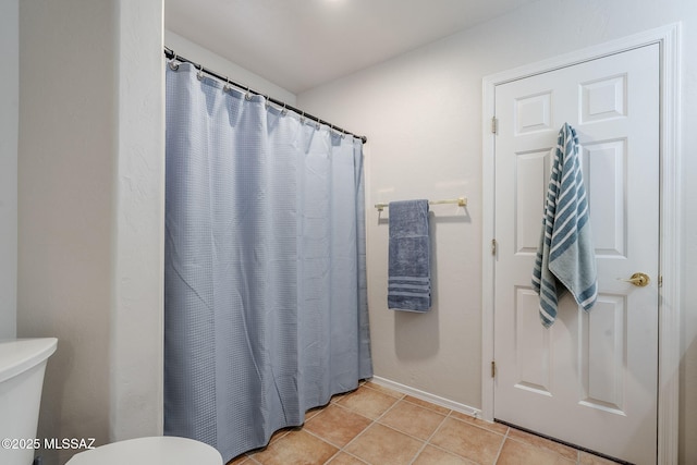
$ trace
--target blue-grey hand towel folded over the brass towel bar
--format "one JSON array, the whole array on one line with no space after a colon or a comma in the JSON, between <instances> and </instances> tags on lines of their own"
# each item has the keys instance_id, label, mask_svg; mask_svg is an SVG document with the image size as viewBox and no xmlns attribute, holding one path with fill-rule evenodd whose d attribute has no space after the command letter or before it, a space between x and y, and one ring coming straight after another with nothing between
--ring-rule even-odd
<instances>
[{"instance_id":1,"label":"blue-grey hand towel folded over the brass towel bar","mask_svg":"<svg viewBox=\"0 0 697 465\"><path fill-rule=\"evenodd\" d=\"M426 311L431 307L428 200L390 203L388 306Z\"/></svg>"}]
</instances>

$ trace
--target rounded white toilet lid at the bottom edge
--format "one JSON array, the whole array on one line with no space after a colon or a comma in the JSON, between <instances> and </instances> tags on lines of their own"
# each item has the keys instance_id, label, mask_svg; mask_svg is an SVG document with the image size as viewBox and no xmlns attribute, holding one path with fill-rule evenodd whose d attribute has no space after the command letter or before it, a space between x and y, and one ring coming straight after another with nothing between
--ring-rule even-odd
<instances>
[{"instance_id":1,"label":"rounded white toilet lid at the bottom edge","mask_svg":"<svg viewBox=\"0 0 697 465\"><path fill-rule=\"evenodd\" d=\"M222 465L220 453L193 439L162 436L113 442L74 455L66 465Z\"/></svg>"}]
</instances>

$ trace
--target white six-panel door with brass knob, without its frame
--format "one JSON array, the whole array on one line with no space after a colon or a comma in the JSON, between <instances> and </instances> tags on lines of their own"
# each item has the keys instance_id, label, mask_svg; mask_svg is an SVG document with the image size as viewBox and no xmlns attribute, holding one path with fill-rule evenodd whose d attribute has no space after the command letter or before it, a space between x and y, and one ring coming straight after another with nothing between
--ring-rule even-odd
<instances>
[{"instance_id":1,"label":"white six-panel door with brass knob, without its frame","mask_svg":"<svg viewBox=\"0 0 697 465\"><path fill-rule=\"evenodd\" d=\"M496 87L494 418L637 464L657 453L659 46ZM551 150L579 137L599 298L542 327L531 290ZM645 273L646 286L627 280Z\"/></svg>"}]
</instances>

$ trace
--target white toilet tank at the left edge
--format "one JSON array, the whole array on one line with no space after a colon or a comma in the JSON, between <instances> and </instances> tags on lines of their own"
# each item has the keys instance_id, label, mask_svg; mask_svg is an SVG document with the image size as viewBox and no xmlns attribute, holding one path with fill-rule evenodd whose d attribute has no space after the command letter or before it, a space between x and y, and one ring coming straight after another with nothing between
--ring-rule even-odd
<instances>
[{"instance_id":1,"label":"white toilet tank at the left edge","mask_svg":"<svg viewBox=\"0 0 697 465\"><path fill-rule=\"evenodd\" d=\"M44 372L56 338L0 339L0 464L30 465Z\"/></svg>"}]
</instances>

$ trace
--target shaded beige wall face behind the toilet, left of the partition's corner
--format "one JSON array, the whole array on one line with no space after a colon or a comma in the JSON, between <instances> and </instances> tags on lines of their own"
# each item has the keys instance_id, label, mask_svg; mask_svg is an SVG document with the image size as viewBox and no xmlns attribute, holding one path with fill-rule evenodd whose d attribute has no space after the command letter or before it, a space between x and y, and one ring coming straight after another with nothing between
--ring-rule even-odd
<instances>
[{"instance_id":1,"label":"shaded beige wall face behind the toilet, left of the partition's corner","mask_svg":"<svg viewBox=\"0 0 697 465\"><path fill-rule=\"evenodd\" d=\"M20 3L17 333L59 339L47 366L39 436L103 442L115 21L111 2L85 3ZM66 458L65 452L44 455L49 463Z\"/></svg>"}]
</instances>

